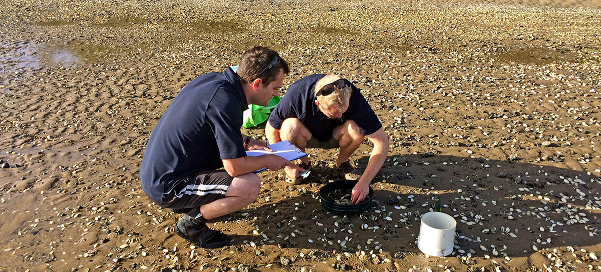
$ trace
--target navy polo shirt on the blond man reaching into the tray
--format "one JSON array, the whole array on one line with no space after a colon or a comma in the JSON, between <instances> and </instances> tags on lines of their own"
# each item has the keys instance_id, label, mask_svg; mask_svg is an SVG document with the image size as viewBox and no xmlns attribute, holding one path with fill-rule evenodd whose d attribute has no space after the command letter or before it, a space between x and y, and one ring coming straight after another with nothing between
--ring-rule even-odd
<instances>
[{"instance_id":1,"label":"navy polo shirt on the blond man reaching into the tray","mask_svg":"<svg viewBox=\"0 0 601 272\"><path fill-rule=\"evenodd\" d=\"M269 124L279 130L284 119L298 118L320 142L329 141L334 127L348 120L355 121L363 135L372 134L382 127L361 91L346 79L347 85L352 88L349 109L342 114L341 118L332 119L324 115L315 104L315 83L323 76L325 74L312 74L292 83L284 98L279 101L269 116Z\"/></svg>"}]
</instances>

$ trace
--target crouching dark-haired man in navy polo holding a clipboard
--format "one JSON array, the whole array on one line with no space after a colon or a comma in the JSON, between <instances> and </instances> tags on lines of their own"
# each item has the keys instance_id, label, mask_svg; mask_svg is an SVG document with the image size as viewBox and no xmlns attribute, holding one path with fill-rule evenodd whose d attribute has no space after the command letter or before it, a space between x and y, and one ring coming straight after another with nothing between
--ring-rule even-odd
<instances>
[{"instance_id":1,"label":"crouching dark-haired man in navy polo holding a clipboard","mask_svg":"<svg viewBox=\"0 0 601 272\"><path fill-rule=\"evenodd\" d=\"M175 225L182 238L204 248L225 246L227 235L209 229L207 220L255 201L261 181L253 171L290 165L272 154L246 157L245 150L270 148L240 133L248 104L266 106L288 71L277 52L254 47L242 55L237 73L228 68L188 83L159 119L139 177L156 204L186 213Z\"/></svg>"}]
</instances>

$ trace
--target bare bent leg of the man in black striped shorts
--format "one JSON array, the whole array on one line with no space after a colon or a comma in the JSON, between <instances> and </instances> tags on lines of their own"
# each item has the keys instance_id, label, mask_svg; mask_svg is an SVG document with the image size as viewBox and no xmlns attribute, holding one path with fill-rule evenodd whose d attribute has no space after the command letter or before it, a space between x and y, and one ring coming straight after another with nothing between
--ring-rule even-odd
<instances>
[{"instance_id":1,"label":"bare bent leg of the man in black striped shorts","mask_svg":"<svg viewBox=\"0 0 601 272\"><path fill-rule=\"evenodd\" d=\"M252 173L235 177L225 192L225 198L200 207L200 213L207 220L240 210L257 199L261 187L260 178Z\"/></svg>"}]
</instances>

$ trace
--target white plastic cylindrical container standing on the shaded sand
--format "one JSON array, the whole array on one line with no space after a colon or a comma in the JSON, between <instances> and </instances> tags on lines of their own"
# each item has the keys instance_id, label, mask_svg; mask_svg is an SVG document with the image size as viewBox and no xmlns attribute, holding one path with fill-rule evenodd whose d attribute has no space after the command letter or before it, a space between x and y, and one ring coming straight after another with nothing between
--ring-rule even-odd
<instances>
[{"instance_id":1,"label":"white plastic cylindrical container standing on the shaded sand","mask_svg":"<svg viewBox=\"0 0 601 272\"><path fill-rule=\"evenodd\" d=\"M457 221L445 213L431 211L421 217L417 247L430 256L443 257L453 252Z\"/></svg>"}]
</instances>

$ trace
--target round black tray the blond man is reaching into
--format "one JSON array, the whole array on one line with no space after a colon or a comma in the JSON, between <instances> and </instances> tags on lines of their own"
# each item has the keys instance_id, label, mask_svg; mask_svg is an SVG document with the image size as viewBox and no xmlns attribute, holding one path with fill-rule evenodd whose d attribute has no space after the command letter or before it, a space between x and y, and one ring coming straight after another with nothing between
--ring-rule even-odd
<instances>
[{"instance_id":1,"label":"round black tray the blond man is reaching into","mask_svg":"<svg viewBox=\"0 0 601 272\"><path fill-rule=\"evenodd\" d=\"M374 198L374 190L370 187L370 193L367 195L367 199L359 204L336 204L335 202L328 201L326 196L328 193L334 192L338 189L353 189L357 184L356 180L337 180L326 184L319 190L319 199L322 201L322 206L328 211L337 214L356 214L367 210L371 206L371 201Z\"/></svg>"}]
</instances>

